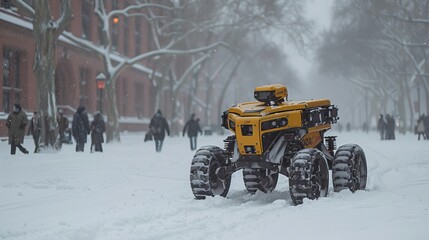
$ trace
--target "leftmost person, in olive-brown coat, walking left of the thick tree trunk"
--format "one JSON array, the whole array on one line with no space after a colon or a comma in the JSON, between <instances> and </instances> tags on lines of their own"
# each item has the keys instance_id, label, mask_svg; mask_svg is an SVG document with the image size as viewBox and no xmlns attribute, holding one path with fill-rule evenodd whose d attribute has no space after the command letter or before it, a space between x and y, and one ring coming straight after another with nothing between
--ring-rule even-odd
<instances>
[{"instance_id":1,"label":"leftmost person, in olive-brown coat, walking left of the thick tree trunk","mask_svg":"<svg viewBox=\"0 0 429 240\"><path fill-rule=\"evenodd\" d=\"M16 103L13 107L13 113L9 114L6 119L10 154L14 155L16 153L16 147L18 147L21 152L28 154L27 149L21 145L24 143L25 127L27 123L27 115L22 111L21 105Z\"/></svg>"}]
</instances>

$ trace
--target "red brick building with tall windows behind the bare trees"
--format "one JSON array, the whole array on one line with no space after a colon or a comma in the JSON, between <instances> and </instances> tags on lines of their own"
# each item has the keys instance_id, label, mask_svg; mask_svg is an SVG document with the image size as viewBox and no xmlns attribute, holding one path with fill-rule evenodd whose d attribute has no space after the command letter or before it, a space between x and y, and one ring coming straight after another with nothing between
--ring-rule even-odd
<instances>
[{"instance_id":1,"label":"red brick building with tall windows behind the bare trees","mask_svg":"<svg viewBox=\"0 0 429 240\"><path fill-rule=\"evenodd\" d=\"M30 117L37 110L36 79L33 72L35 42L31 19L18 14L16 8L1 0L0 6L0 135L7 134L4 120L13 104L19 102ZM32 1L27 0L29 4ZM54 15L60 10L61 1L51 0ZM98 19L94 15L93 1L71 1L73 19L68 28L75 36L98 43ZM106 8L124 8L127 1L106 1ZM56 16L54 16L56 17ZM111 36L117 57L135 56L148 49L148 26L139 18L119 18L112 25ZM56 101L71 117L73 109L84 105L89 113L103 109L96 76L104 69L97 55L60 37L56 49ZM145 130L154 113L152 84L141 65L128 68L119 76L116 86L118 111L122 130Z\"/></svg>"}]
</instances>

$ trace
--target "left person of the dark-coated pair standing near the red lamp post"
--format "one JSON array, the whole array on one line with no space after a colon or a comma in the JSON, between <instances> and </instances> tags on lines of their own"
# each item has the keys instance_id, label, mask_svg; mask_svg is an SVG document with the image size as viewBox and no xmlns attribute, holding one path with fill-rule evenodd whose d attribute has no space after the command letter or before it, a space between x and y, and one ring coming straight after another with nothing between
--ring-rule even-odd
<instances>
[{"instance_id":1,"label":"left person of the dark-coated pair standing near the red lamp post","mask_svg":"<svg viewBox=\"0 0 429 240\"><path fill-rule=\"evenodd\" d=\"M87 135L90 133L88 114L85 111L85 107L80 106L77 108L76 113L73 116L72 122L72 134L76 141L76 152L83 152L85 143L87 141Z\"/></svg>"}]
</instances>

